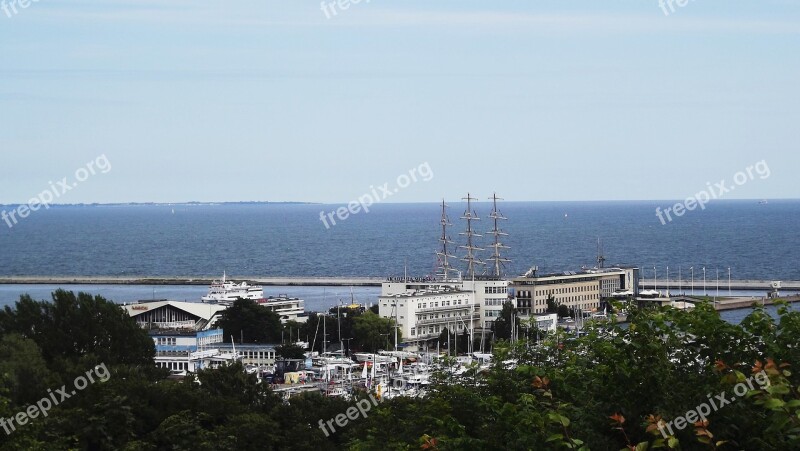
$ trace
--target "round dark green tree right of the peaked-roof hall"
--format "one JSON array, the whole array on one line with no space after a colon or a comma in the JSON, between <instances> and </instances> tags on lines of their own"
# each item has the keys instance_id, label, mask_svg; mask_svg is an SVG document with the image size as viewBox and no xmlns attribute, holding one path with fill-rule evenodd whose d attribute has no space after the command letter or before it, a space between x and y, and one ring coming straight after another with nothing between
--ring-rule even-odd
<instances>
[{"instance_id":1,"label":"round dark green tree right of the peaked-roof hall","mask_svg":"<svg viewBox=\"0 0 800 451\"><path fill-rule=\"evenodd\" d=\"M258 305L252 299L237 299L222 312L217 322L225 333L225 342L278 343L281 340L281 320L277 313Z\"/></svg>"}]
</instances>

